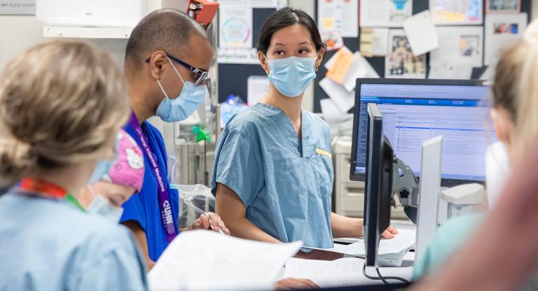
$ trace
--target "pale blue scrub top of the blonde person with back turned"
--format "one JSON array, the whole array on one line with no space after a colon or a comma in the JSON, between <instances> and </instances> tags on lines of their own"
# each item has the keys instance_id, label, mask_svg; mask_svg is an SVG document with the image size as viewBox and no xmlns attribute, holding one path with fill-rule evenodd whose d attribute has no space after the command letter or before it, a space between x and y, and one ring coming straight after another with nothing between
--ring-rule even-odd
<instances>
[{"instance_id":1,"label":"pale blue scrub top of the blonde person with back turned","mask_svg":"<svg viewBox=\"0 0 538 291\"><path fill-rule=\"evenodd\" d=\"M0 290L147 290L126 227L69 201L0 197Z\"/></svg>"}]
</instances>

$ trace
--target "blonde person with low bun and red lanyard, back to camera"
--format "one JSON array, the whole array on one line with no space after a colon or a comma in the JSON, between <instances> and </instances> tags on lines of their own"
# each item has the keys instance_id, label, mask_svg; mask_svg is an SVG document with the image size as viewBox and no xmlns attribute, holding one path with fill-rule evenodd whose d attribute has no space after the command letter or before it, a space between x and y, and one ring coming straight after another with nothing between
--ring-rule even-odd
<instances>
[{"instance_id":1,"label":"blonde person with low bun and red lanyard, back to camera","mask_svg":"<svg viewBox=\"0 0 538 291\"><path fill-rule=\"evenodd\" d=\"M41 43L6 66L0 290L147 290L128 229L65 199L108 171L128 115L122 72L92 45Z\"/></svg>"}]
</instances>

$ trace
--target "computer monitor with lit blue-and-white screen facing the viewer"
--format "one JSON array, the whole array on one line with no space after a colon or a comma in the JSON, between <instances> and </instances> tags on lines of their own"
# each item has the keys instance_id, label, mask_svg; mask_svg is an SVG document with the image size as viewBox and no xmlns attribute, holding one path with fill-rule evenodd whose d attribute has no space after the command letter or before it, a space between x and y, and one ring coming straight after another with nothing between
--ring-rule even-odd
<instances>
[{"instance_id":1,"label":"computer monitor with lit blue-and-white screen facing the viewer","mask_svg":"<svg viewBox=\"0 0 538 291\"><path fill-rule=\"evenodd\" d=\"M366 104L375 103L395 155L416 176L422 142L443 136L441 185L483 183L485 149L495 141L485 102L489 92L480 80L357 79L351 180L366 178Z\"/></svg>"}]
</instances>

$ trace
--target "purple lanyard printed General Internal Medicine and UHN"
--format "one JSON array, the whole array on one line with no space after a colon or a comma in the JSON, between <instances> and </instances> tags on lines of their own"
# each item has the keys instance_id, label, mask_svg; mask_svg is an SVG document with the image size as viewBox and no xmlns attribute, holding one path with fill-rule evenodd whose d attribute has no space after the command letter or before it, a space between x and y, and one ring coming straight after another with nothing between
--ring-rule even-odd
<instances>
[{"instance_id":1,"label":"purple lanyard printed General Internal Medicine and UHN","mask_svg":"<svg viewBox=\"0 0 538 291\"><path fill-rule=\"evenodd\" d=\"M153 151L149 147L146 134L142 131L142 127L138 123L137 115L131 113L131 118L129 120L129 125L135 129L135 134L142 145L142 149L146 157L148 157L149 162L151 163L151 168L153 173L157 178L158 183L158 199L159 199L159 209L160 209L160 218L163 221L163 227L165 227L166 238L168 242L172 241L176 236L176 230L174 228L174 216L172 215L172 208L170 206L170 194L168 194L168 186L165 184L165 179L163 178L163 171L161 171L160 166L155 160Z\"/></svg>"}]
</instances>

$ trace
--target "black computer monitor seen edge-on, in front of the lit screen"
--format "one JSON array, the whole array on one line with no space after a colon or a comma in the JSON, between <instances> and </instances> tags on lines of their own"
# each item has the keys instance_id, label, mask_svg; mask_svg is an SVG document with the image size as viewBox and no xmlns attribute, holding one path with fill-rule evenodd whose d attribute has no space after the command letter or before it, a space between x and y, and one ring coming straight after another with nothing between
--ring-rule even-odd
<instances>
[{"instance_id":1,"label":"black computer monitor seen edge-on, in front of the lit screen","mask_svg":"<svg viewBox=\"0 0 538 291\"><path fill-rule=\"evenodd\" d=\"M394 152L383 134L383 120L378 106L368 104L366 126L366 164L364 185L364 246L366 266L377 266L381 234L390 224L392 165Z\"/></svg>"}]
</instances>

